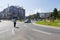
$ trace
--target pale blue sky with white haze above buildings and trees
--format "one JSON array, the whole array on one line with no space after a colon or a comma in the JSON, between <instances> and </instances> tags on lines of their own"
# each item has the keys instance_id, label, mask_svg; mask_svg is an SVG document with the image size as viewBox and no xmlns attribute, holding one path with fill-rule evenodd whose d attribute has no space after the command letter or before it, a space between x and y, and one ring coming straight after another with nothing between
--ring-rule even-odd
<instances>
[{"instance_id":1,"label":"pale blue sky with white haze above buildings and trees","mask_svg":"<svg viewBox=\"0 0 60 40\"><path fill-rule=\"evenodd\" d=\"M0 0L0 11L9 6L20 6L25 9L26 16L36 12L51 12L54 8L60 10L60 0Z\"/></svg>"}]
</instances>

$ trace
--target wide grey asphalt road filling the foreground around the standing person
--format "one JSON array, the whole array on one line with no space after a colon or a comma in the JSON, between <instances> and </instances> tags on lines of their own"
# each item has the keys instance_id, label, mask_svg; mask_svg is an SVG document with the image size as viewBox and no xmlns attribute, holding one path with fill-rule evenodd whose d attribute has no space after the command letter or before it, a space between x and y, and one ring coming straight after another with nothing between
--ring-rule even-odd
<instances>
[{"instance_id":1,"label":"wide grey asphalt road filling the foreground around the standing person","mask_svg":"<svg viewBox=\"0 0 60 40\"><path fill-rule=\"evenodd\" d=\"M0 40L60 40L60 29L40 27L32 23L0 22Z\"/></svg>"}]
</instances>

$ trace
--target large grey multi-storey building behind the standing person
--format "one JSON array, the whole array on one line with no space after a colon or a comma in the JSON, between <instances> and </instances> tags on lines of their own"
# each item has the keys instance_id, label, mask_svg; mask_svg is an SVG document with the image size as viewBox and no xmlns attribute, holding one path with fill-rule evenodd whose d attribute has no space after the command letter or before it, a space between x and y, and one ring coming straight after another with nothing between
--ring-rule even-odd
<instances>
[{"instance_id":1,"label":"large grey multi-storey building behind the standing person","mask_svg":"<svg viewBox=\"0 0 60 40\"><path fill-rule=\"evenodd\" d=\"M17 19L25 19L25 9L18 6L10 6L0 12L1 19L12 19L16 17Z\"/></svg>"}]
</instances>

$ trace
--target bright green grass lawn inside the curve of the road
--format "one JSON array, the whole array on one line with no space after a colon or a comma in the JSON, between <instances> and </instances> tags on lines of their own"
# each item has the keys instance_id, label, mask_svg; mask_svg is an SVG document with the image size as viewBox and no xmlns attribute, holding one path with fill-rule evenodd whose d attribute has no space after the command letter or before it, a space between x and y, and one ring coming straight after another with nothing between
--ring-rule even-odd
<instances>
[{"instance_id":1,"label":"bright green grass lawn inside the curve of the road","mask_svg":"<svg viewBox=\"0 0 60 40\"><path fill-rule=\"evenodd\" d=\"M55 20L54 22L37 21L36 24L42 24L42 25L49 25L49 26L60 27L60 20Z\"/></svg>"}]
</instances>

